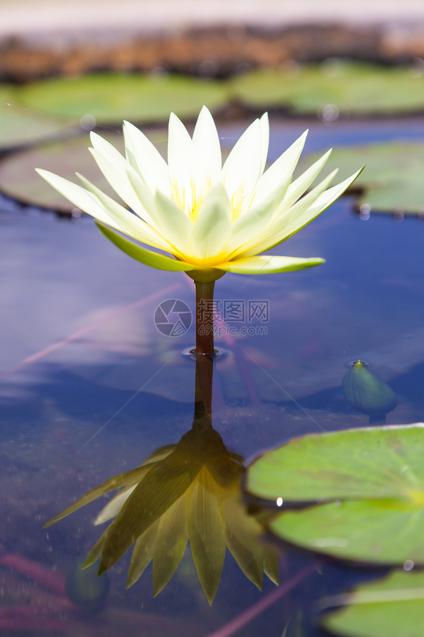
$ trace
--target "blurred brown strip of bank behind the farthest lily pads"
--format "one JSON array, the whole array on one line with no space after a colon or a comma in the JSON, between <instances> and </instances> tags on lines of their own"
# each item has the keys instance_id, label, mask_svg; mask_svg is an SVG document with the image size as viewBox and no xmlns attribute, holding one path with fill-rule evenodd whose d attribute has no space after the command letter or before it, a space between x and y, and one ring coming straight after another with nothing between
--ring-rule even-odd
<instances>
[{"instance_id":1,"label":"blurred brown strip of bank behind the farthest lily pads","mask_svg":"<svg viewBox=\"0 0 424 637\"><path fill-rule=\"evenodd\" d=\"M31 43L10 38L0 43L0 81L27 82L55 75L95 71L168 71L224 77L252 68L278 67L287 60L321 61L349 57L374 62L410 61L424 56L424 31L300 25L259 30L243 27L200 29L182 34L122 36L94 43Z\"/></svg>"}]
</instances>

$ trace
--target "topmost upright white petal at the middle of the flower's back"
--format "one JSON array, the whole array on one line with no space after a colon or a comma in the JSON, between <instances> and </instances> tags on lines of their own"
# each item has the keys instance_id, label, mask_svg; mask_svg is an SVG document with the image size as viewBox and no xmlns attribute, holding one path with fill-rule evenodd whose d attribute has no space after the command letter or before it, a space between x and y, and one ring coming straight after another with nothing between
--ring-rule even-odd
<instances>
[{"instance_id":1,"label":"topmost upright white petal at the middle of the flower's back","mask_svg":"<svg viewBox=\"0 0 424 637\"><path fill-rule=\"evenodd\" d=\"M193 132L196 155L196 188L209 190L221 177L222 157L214 119L206 106L202 107ZM210 182L210 183L209 183Z\"/></svg>"}]
</instances>

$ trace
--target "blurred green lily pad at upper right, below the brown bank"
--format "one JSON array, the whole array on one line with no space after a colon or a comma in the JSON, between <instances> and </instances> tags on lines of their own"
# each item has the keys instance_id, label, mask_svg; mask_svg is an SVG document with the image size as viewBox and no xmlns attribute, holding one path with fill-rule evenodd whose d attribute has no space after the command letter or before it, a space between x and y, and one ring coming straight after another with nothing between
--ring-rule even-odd
<instances>
[{"instance_id":1,"label":"blurred green lily pad at upper right, below the brown bank","mask_svg":"<svg viewBox=\"0 0 424 637\"><path fill-rule=\"evenodd\" d=\"M424 76L409 67L334 61L299 69L253 71L236 78L232 86L249 106L286 107L303 115L315 115L327 104L336 106L336 113L338 109L352 115L424 109Z\"/></svg>"}]
</instances>

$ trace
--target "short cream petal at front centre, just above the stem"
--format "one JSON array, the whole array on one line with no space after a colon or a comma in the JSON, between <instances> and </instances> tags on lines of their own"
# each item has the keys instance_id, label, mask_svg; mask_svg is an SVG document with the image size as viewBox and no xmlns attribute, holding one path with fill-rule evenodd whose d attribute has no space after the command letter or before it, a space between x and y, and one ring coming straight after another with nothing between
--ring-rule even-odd
<instances>
[{"instance_id":1,"label":"short cream petal at front centre, just above the stem","mask_svg":"<svg viewBox=\"0 0 424 637\"><path fill-rule=\"evenodd\" d=\"M208 259L220 254L229 238L231 206L221 184L210 190L200 206L191 232L191 254L196 259Z\"/></svg>"}]
</instances>

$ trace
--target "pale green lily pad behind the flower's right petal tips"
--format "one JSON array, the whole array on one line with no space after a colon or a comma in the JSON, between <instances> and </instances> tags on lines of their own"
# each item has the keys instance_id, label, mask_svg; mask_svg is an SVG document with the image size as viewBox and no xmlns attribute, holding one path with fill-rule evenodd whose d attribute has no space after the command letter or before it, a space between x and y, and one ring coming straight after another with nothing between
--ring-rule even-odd
<instances>
[{"instance_id":1,"label":"pale green lily pad behind the flower's right petal tips","mask_svg":"<svg viewBox=\"0 0 424 637\"><path fill-rule=\"evenodd\" d=\"M299 164L299 171L320 155L309 155ZM424 212L423 164L424 143L395 141L355 147L335 148L325 164L325 171L339 168L338 180L352 175L366 164L352 190L360 193L357 206L366 211L400 211L407 215Z\"/></svg>"}]
</instances>

